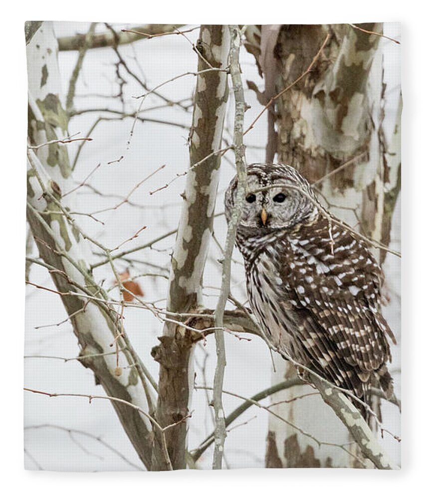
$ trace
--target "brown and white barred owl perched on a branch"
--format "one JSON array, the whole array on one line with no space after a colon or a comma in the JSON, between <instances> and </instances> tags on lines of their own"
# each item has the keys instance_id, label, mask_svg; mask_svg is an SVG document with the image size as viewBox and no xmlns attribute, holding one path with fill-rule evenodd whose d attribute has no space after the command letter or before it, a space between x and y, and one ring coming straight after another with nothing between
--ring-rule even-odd
<instances>
[{"instance_id":1,"label":"brown and white barred owl perched on a branch","mask_svg":"<svg viewBox=\"0 0 429 499\"><path fill-rule=\"evenodd\" d=\"M236 191L235 177L225 194L228 221ZM247 193L236 245L251 309L268 340L363 401L371 385L390 398L387 336L395 338L380 313L383 274L368 246L328 220L290 166L250 165Z\"/></svg>"}]
</instances>

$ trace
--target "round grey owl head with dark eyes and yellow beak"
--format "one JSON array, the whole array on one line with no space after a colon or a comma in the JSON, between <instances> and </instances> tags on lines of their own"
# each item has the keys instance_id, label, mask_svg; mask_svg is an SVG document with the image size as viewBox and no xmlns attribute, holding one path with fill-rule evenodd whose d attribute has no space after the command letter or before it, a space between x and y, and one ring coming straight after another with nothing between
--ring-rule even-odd
<instances>
[{"instance_id":1,"label":"round grey owl head with dark eyes and yellow beak","mask_svg":"<svg viewBox=\"0 0 429 499\"><path fill-rule=\"evenodd\" d=\"M228 222L236 196L237 177L234 177L225 193ZM313 219L318 212L317 206L317 198L309 183L291 166L249 165L246 199L238 230L254 233L257 229L261 234L266 234L292 228Z\"/></svg>"}]
</instances>

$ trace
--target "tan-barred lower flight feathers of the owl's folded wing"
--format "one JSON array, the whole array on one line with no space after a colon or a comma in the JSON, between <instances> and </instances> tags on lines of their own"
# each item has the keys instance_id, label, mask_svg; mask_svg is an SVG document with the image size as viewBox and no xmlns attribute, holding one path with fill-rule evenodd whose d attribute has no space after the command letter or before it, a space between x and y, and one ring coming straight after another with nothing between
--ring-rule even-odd
<instances>
[{"instance_id":1,"label":"tan-barred lower flight feathers of the owl's folded wing","mask_svg":"<svg viewBox=\"0 0 429 499\"><path fill-rule=\"evenodd\" d=\"M296 290L296 298L302 302L306 296ZM324 293L305 303L301 303L296 336L313 368L358 397L363 396L363 383L374 372L383 370L379 375L388 376L388 388L385 364L390 359L389 344L374 317L365 313L365 305L353 297L332 300Z\"/></svg>"}]
</instances>

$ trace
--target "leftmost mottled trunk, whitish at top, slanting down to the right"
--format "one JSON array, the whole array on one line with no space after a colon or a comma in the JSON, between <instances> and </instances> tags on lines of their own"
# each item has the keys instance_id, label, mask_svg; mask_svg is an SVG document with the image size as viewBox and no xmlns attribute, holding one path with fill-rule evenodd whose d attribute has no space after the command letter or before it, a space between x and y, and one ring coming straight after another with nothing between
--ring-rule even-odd
<instances>
[{"instance_id":1,"label":"leftmost mottled trunk, whitish at top, slanting down to the right","mask_svg":"<svg viewBox=\"0 0 429 499\"><path fill-rule=\"evenodd\" d=\"M62 138L67 132L63 92L57 64L57 42L52 23L44 22L27 45L29 75L28 140L32 145ZM98 288L88 271L88 250L78 228L61 214L61 193L70 190L70 164L66 146L52 144L28 151L27 219L41 260L50 268L60 293L85 292L96 295ZM67 197L67 205L73 196ZM44 213L49 212L49 213ZM52 213L53 212L53 213ZM100 296L98 294L98 296ZM78 296L61 295L78 339L80 362L90 368L108 396L133 403L147 410L145 388L139 369L115 372L115 356L110 346L117 335L116 317L100 302ZM121 365L140 362L126 340L119 339ZM91 357L91 355L97 355ZM31 387L44 388L44 387ZM125 404L112 403L119 420L145 466L151 464L151 426L139 412Z\"/></svg>"}]
</instances>

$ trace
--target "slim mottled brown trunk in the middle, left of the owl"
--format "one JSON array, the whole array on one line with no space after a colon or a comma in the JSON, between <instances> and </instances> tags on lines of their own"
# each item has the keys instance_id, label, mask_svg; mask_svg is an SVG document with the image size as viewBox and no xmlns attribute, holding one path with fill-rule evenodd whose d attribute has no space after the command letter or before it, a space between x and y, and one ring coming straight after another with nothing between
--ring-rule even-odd
<instances>
[{"instance_id":1,"label":"slim mottled brown trunk in the middle, left of the owl","mask_svg":"<svg viewBox=\"0 0 429 499\"><path fill-rule=\"evenodd\" d=\"M197 50L198 70L227 66L229 36L227 26L203 25ZM227 75L223 71L200 74L194 97L190 140L191 169L183 195L182 216L172 256L168 310L187 312L200 304L200 293L207 251L211 239L217 193L220 157L214 155L196 168L209 154L220 149L228 98ZM163 352L161 354L161 352ZM189 412L192 346L183 341L181 330L166 323L161 345L154 351L160 362L157 420L165 427L183 419ZM173 358L174 362L170 359ZM174 469L186 467L186 422L166 432L167 446ZM166 463L159 436L154 441L153 469L164 470Z\"/></svg>"}]
</instances>

